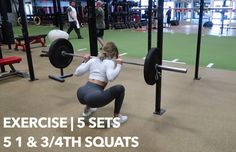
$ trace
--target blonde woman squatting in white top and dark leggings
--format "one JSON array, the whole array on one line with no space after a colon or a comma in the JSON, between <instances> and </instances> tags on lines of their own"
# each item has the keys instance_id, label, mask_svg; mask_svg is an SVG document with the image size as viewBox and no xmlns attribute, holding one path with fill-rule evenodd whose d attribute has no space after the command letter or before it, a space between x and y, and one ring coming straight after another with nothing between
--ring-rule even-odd
<instances>
[{"instance_id":1,"label":"blonde woman squatting in white top and dark leggings","mask_svg":"<svg viewBox=\"0 0 236 152\"><path fill-rule=\"evenodd\" d=\"M120 124L128 120L127 116L120 114L125 96L124 86L115 85L105 89L107 83L115 80L121 71L122 60L118 55L116 45L107 42L98 57L84 56L84 62L76 69L74 73L76 76L89 72L88 82L77 91L78 100L86 105L83 116L90 116L97 108L115 100L114 117L120 118Z\"/></svg>"}]
</instances>

